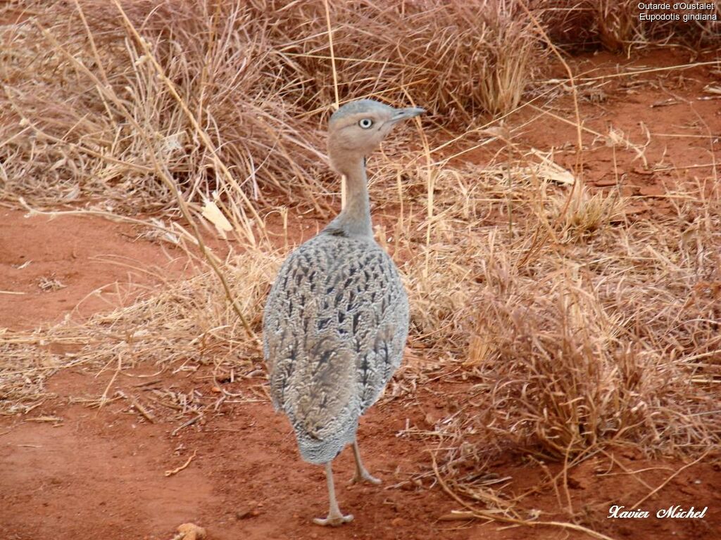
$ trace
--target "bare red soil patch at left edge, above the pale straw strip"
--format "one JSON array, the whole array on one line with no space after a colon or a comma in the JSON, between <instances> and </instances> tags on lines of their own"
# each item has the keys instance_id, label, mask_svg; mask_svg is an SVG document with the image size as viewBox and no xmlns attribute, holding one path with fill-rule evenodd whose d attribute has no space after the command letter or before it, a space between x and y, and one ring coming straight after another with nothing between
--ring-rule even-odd
<instances>
[{"instance_id":1,"label":"bare red soil patch at left edge, above the pale straw strip","mask_svg":"<svg viewBox=\"0 0 721 540\"><path fill-rule=\"evenodd\" d=\"M180 276L182 251L142 240L140 233L99 217L51 219L0 207L0 328L110 310Z\"/></svg>"}]
</instances>

